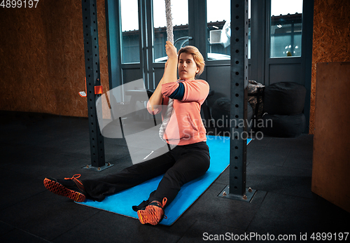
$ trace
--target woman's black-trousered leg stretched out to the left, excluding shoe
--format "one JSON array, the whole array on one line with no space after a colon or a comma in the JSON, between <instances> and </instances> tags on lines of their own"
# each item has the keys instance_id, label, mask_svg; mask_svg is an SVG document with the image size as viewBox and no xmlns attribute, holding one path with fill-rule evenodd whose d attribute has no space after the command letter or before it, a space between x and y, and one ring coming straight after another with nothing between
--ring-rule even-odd
<instances>
[{"instance_id":1,"label":"woman's black-trousered leg stretched out to the left, excluding shoe","mask_svg":"<svg viewBox=\"0 0 350 243\"><path fill-rule=\"evenodd\" d=\"M127 167L117 174L110 174L99 179L82 180L87 197L102 201L106 195L132 188L164 174L175 162L171 152L159 154L158 151L155 151L150 157L152 157L150 160Z\"/></svg>"}]
</instances>

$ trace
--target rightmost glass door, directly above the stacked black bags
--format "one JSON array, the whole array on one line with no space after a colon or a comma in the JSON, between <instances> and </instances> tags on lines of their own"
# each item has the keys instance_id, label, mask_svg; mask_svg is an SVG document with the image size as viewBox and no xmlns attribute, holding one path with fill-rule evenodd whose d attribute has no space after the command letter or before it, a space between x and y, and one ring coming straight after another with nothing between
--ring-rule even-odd
<instances>
[{"instance_id":1,"label":"rightmost glass door, directly above the stacked black bags","mask_svg":"<svg viewBox=\"0 0 350 243\"><path fill-rule=\"evenodd\" d=\"M303 0L267 1L265 85L295 82L302 78Z\"/></svg>"}]
</instances>

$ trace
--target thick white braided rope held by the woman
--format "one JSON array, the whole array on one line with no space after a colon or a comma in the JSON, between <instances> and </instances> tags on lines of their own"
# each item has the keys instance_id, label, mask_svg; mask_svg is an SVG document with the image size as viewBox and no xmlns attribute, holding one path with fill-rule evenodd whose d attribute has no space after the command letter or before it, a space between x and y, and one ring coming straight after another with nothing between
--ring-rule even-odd
<instances>
[{"instance_id":1,"label":"thick white braided rope held by the woman","mask_svg":"<svg viewBox=\"0 0 350 243\"><path fill-rule=\"evenodd\" d=\"M174 34L173 34L173 23L172 23L172 3L170 0L165 0L165 15L167 17L167 37L168 37L168 41L171 41L172 43L174 43ZM164 119L163 119L163 123L160 126L159 129L159 137L160 139L162 139L163 141L165 141L165 139L163 139L164 133L165 133L165 129L167 128L167 125L169 123L170 120L170 116L172 116L172 111L173 111L173 106L174 101L173 99L169 98L169 102L168 102L168 106L167 106L167 112L165 113Z\"/></svg>"}]
</instances>

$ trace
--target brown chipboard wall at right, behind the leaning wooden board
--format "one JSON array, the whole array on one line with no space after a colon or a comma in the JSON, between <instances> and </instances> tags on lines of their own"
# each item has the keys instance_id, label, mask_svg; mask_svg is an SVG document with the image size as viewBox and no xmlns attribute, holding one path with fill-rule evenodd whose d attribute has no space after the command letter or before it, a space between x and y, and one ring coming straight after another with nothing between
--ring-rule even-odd
<instances>
[{"instance_id":1,"label":"brown chipboard wall at right, behind the leaning wooden board","mask_svg":"<svg viewBox=\"0 0 350 243\"><path fill-rule=\"evenodd\" d=\"M305 1L305 0L304 0ZM311 70L310 134L314 134L316 64L350 61L350 1L315 0Z\"/></svg>"}]
</instances>

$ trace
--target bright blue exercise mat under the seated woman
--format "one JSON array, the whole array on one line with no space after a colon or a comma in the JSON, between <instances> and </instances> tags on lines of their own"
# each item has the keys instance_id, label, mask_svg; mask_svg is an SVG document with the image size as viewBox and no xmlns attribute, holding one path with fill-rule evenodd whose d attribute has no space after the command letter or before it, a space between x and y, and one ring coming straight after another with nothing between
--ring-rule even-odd
<instances>
[{"instance_id":1,"label":"bright blue exercise mat under the seated woman","mask_svg":"<svg viewBox=\"0 0 350 243\"><path fill-rule=\"evenodd\" d=\"M247 139L247 144L250 141L251 139ZM167 218L164 218L160 224L172 225L230 165L230 139L228 137L207 136L207 145L211 158L207 173L183 185L175 200L165 208ZM132 206L147 200L150 193L157 189L161 179L162 176L155 177L133 188L109 195L102 202L86 200L79 204L138 218Z\"/></svg>"}]
</instances>

